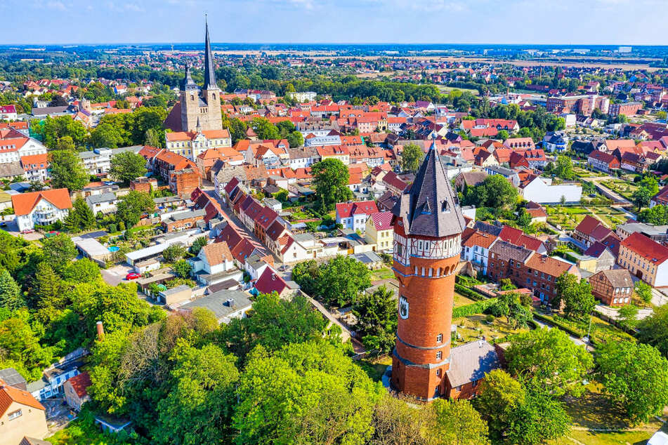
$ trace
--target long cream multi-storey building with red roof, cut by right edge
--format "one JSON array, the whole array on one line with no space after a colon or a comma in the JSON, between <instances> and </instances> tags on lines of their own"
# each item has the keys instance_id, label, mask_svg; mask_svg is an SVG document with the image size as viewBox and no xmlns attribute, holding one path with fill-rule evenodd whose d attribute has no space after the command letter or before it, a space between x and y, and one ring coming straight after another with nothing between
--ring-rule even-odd
<instances>
[{"instance_id":1,"label":"long cream multi-storey building with red roof, cut by right edge","mask_svg":"<svg viewBox=\"0 0 668 445\"><path fill-rule=\"evenodd\" d=\"M630 234L620 243L617 264L653 287L668 286L668 247L640 232Z\"/></svg>"}]
</instances>

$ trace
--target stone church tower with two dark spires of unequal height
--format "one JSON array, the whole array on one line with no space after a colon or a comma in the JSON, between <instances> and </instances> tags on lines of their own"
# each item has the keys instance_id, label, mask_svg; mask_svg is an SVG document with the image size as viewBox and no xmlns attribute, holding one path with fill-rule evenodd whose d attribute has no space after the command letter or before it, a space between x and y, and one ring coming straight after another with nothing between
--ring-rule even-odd
<instances>
[{"instance_id":1,"label":"stone church tower with two dark spires of unequal height","mask_svg":"<svg viewBox=\"0 0 668 445\"><path fill-rule=\"evenodd\" d=\"M185 67L185 76L181 81L180 90L181 131L221 130L223 128L221 90L216 85L214 55L211 53L209 41L209 22L206 24L204 41L204 87L200 92L199 87L190 77L190 68Z\"/></svg>"}]
</instances>

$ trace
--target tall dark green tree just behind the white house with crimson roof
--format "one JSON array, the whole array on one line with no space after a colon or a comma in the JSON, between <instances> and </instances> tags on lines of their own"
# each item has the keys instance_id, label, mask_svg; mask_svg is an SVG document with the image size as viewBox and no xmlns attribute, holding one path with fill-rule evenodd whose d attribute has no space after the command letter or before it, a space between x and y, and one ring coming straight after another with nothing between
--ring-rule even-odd
<instances>
[{"instance_id":1,"label":"tall dark green tree just behind the white house with crimson roof","mask_svg":"<svg viewBox=\"0 0 668 445\"><path fill-rule=\"evenodd\" d=\"M353 199L353 192L348 188L348 167L339 159L329 158L317 162L311 171L315 197L322 210L331 211L337 202Z\"/></svg>"}]
</instances>

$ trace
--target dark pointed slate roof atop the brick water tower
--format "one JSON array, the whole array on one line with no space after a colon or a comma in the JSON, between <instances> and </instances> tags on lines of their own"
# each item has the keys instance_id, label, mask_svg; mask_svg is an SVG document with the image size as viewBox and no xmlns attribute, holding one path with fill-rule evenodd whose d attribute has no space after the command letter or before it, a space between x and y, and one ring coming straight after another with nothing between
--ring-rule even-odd
<instances>
[{"instance_id":1,"label":"dark pointed slate roof atop the brick water tower","mask_svg":"<svg viewBox=\"0 0 668 445\"><path fill-rule=\"evenodd\" d=\"M404 220L407 234L435 238L459 234L466 221L456 196L432 143L412 187L401 195L393 213Z\"/></svg>"}]
</instances>

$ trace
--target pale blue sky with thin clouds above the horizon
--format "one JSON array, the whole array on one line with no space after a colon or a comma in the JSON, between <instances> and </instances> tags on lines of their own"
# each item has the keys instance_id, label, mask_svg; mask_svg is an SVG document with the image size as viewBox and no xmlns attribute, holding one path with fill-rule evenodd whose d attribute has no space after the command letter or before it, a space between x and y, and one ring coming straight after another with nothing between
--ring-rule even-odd
<instances>
[{"instance_id":1,"label":"pale blue sky with thin clouds above the horizon","mask_svg":"<svg viewBox=\"0 0 668 445\"><path fill-rule=\"evenodd\" d=\"M668 0L0 0L0 44L668 44Z\"/></svg>"}]
</instances>

